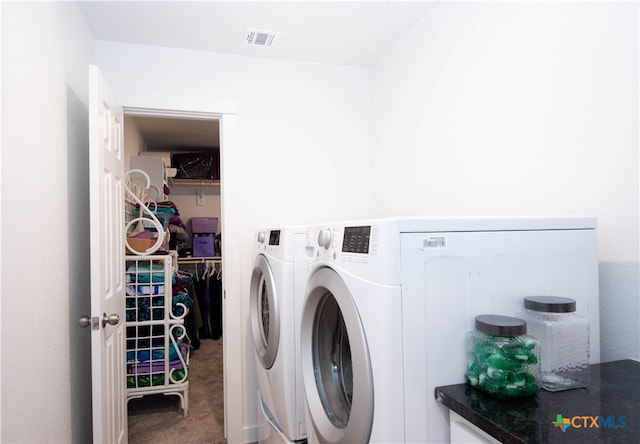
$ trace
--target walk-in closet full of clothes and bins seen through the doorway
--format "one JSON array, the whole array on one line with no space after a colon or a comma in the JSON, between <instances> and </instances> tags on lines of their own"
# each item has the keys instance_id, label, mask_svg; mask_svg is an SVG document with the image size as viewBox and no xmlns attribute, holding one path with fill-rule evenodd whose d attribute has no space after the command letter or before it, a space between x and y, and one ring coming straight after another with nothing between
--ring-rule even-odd
<instances>
[{"instance_id":1,"label":"walk-in closet full of clothes and bins seen through the doorway","mask_svg":"<svg viewBox=\"0 0 640 444\"><path fill-rule=\"evenodd\" d=\"M219 120L125 113L124 147L129 442L224 442Z\"/></svg>"}]
</instances>

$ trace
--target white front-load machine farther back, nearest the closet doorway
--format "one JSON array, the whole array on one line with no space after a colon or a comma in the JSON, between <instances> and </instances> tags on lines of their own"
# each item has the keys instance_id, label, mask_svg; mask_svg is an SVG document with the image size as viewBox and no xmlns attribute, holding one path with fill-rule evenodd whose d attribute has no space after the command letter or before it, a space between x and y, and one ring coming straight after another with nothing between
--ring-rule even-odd
<instances>
[{"instance_id":1,"label":"white front-load machine farther back, nearest the closet doorway","mask_svg":"<svg viewBox=\"0 0 640 444\"><path fill-rule=\"evenodd\" d=\"M299 328L305 227L258 230L250 319L258 385L259 442L306 439Z\"/></svg>"}]
</instances>

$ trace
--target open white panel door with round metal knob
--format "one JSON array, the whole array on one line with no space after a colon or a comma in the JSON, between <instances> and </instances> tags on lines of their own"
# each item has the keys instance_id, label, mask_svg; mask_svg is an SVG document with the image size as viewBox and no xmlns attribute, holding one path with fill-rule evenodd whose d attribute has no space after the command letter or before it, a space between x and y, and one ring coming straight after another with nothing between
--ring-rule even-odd
<instances>
[{"instance_id":1,"label":"open white panel door with round metal knob","mask_svg":"<svg viewBox=\"0 0 640 444\"><path fill-rule=\"evenodd\" d=\"M127 442L122 107L89 67L93 442Z\"/></svg>"}]
</instances>

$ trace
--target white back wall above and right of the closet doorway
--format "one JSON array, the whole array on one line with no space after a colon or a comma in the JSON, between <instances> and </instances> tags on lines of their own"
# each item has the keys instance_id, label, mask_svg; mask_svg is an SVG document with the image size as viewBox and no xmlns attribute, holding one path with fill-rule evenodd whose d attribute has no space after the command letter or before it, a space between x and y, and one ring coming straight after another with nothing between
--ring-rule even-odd
<instances>
[{"instance_id":1,"label":"white back wall above and right of the closet doorway","mask_svg":"<svg viewBox=\"0 0 640 444\"><path fill-rule=\"evenodd\" d=\"M97 64L124 106L187 103L194 109L228 99L237 106L237 143L222 147L226 301L237 324L225 325L227 376L242 374L243 430L230 442L255 440L253 350L248 287L255 230L263 226L360 218L373 210L368 72L350 68L97 42ZM203 105L204 104L204 105ZM167 105L164 105L165 107ZM226 210L225 210L226 208ZM226 212L225 212L226 211ZM233 230L233 231L232 231ZM232 236L229 233L238 233ZM239 255L230 263L224 251ZM227 349L225 349L227 350ZM234 382L235 383L235 382ZM234 392L236 393L236 392ZM232 423L239 418L232 418Z\"/></svg>"}]
</instances>

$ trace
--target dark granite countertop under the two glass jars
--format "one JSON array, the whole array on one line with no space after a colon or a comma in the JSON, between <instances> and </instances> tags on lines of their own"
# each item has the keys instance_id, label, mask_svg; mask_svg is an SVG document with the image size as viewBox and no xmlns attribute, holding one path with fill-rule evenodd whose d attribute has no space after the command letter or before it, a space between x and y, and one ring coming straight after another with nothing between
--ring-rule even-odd
<instances>
[{"instance_id":1,"label":"dark granite countertop under the two glass jars","mask_svg":"<svg viewBox=\"0 0 640 444\"><path fill-rule=\"evenodd\" d=\"M592 365L587 388L500 401L456 384L437 387L435 396L503 443L640 443L640 362L633 360ZM553 425L558 419L573 425L563 431Z\"/></svg>"}]
</instances>

